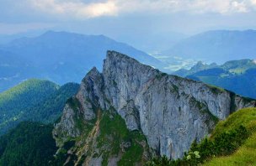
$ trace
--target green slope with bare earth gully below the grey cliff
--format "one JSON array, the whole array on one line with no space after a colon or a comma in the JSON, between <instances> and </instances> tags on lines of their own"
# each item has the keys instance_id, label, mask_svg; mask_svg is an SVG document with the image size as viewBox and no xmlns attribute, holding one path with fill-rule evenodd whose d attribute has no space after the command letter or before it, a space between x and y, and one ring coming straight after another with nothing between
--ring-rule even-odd
<instances>
[{"instance_id":1,"label":"green slope with bare earth gully below the grey cliff","mask_svg":"<svg viewBox=\"0 0 256 166\"><path fill-rule=\"evenodd\" d=\"M68 105L77 109L74 99ZM96 110L95 110L96 111ZM80 137L69 137L56 153L55 164L69 165L142 165L150 158L146 137L140 131L130 131L125 120L115 109L98 110L97 119L83 122L76 112L75 125L82 131ZM54 132L57 137L56 132Z\"/></svg>"}]
</instances>

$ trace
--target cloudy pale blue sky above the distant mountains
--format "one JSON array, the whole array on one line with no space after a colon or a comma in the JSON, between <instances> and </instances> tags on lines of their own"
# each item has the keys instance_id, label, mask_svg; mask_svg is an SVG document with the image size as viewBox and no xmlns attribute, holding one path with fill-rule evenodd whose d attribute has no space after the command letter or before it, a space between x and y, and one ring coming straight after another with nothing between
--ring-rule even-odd
<instances>
[{"instance_id":1,"label":"cloudy pale blue sky above the distant mountains","mask_svg":"<svg viewBox=\"0 0 256 166\"><path fill-rule=\"evenodd\" d=\"M212 29L256 29L256 0L0 0L0 4L0 34L52 29L104 34L136 45L140 39L157 37L171 43L170 39L175 42Z\"/></svg>"}]
</instances>

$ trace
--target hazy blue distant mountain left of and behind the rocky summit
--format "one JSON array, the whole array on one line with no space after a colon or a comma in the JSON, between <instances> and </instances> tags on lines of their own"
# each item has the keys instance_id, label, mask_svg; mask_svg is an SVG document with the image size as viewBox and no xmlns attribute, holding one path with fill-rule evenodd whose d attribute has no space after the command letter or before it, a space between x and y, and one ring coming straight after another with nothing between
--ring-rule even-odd
<instances>
[{"instance_id":1,"label":"hazy blue distant mountain left of and behind the rocky summit","mask_svg":"<svg viewBox=\"0 0 256 166\"><path fill-rule=\"evenodd\" d=\"M102 54L107 49L131 54L141 63L163 69L159 60L104 35L49 31L0 46L0 67L4 71L0 73L0 91L29 78L51 80L60 85L78 82L93 66L101 69Z\"/></svg>"}]
</instances>

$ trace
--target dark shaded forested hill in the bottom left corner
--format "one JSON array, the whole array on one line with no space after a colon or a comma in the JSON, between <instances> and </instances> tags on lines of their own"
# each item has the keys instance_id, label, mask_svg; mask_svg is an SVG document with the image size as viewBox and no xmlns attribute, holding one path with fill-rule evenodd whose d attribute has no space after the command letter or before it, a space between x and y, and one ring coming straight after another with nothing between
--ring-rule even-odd
<instances>
[{"instance_id":1,"label":"dark shaded forested hill in the bottom left corner","mask_svg":"<svg viewBox=\"0 0 256 166\"><path fill-rule=\"evenodd\" d=\"M56 153L52 125L21 122L0 137L0 165L49 165Z\"/></svg>"}]
</instances>

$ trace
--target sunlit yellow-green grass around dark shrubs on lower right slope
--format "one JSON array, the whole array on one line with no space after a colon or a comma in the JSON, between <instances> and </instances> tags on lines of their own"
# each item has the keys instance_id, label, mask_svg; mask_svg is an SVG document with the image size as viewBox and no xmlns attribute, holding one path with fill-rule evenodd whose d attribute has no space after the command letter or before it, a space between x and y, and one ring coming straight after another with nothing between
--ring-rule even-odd
<instances>
[{"instance_id":1,"label":"sunlit yellow-green grass around dark shrubs on lower right slope","mask_svg":"<svg viewBox=\"0 0 256 166\"><path fill-rule=\"evenodd\" d=\"M204 165L256 165L256 108L245 108L234 112L226 121L219 122L212 137L221 132L228 132L243 125L250 132L250 136L235 153L229 156L212 158Z\"/></svg>"}]
</instances>

